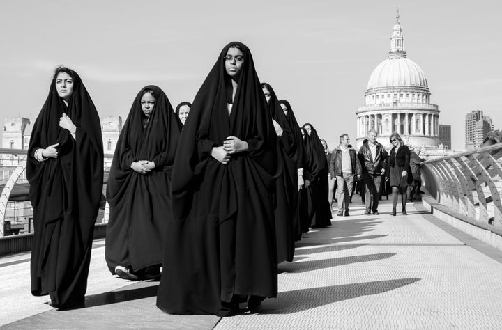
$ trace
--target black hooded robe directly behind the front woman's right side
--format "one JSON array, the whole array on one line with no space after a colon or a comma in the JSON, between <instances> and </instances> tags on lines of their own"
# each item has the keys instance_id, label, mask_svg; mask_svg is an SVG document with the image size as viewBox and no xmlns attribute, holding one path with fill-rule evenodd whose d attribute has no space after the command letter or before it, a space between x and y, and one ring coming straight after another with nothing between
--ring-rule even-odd
<instances>
[{"instance_id":1,"label":"black hooded robe directly behind the front woman's right side","mask_svg":"<svg viewBox=\"0 0 502 330\"><path fill-rule=\"evenodd\" d=\"M277 157L282 160L282 171L275 184L275 238L277 240L277 262L293 261L294 257L294 218L296 200L298 199L296 150L297 144L294 131L275 95L272 86L261 84L270 93L268 111L272 118L282 128L282 134L277 138Z\"/></svg>"}]
</instances>

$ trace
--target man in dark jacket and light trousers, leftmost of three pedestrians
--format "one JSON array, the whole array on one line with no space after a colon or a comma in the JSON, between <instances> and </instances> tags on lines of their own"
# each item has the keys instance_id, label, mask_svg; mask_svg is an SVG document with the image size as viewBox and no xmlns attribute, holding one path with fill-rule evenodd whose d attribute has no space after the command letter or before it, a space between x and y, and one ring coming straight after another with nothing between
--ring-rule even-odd
<instances>
[{"instance_id":1,"label":"man in dark jacket and light trousers, leftmost of three pedestrians","mask_svg":"<svg viewBox=\"0 0 502 330\"><path fill-rule=\"evenodd\" d=\"M349 203L352 193L354 175L361 176L361 166L356 150L349 144L348 134L340 136L340 146L333 150L330 162L331 178L337 180L338 217L349 216Z\"/></svg>"}]
</instances>

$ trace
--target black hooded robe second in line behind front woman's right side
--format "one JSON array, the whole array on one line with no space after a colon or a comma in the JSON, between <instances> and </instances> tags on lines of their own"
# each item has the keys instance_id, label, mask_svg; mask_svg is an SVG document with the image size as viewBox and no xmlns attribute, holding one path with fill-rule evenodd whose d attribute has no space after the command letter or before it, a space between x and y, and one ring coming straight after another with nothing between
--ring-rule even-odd
<instances>
[{"instance_id":1,"label":"black hooded robe second in line behind front woman's right side","mask_svg":"<svg viewBox=\"0 0 502 330\"><path fill-rule=\"evenodd\" d=\"M298 191L298 168L303 168L303 178L304 180L308 178L309 172L308 172L308 165L306 164L305 161L305 152L304 150L304 141L303 141L303 136L301 133L301 128L300 125L298 125L298 122L296 121L296 117L293 112L293 108L291 108L291 104L287 100L279 100L280 104L284 104L287 109L287 113L285 115L285 118L288 121L289 128L291 129L294 139L296 141L296 150L295 150L295 155L292 157L296 161L296 164L294 164L294 167L296 168L294 171L294 178L293 178L293 186L294 186L294 203L291 205L291 210L293 210L293 235L294 239L296 241L301 239L301 219L305 218L301 214L301 203L302 203L302 193L306 189L302 189L301 191ZM284 113L284 111L283 111ZM308 226L307 226L307 231L308 231Z\"/></svg>"}]
</instances>

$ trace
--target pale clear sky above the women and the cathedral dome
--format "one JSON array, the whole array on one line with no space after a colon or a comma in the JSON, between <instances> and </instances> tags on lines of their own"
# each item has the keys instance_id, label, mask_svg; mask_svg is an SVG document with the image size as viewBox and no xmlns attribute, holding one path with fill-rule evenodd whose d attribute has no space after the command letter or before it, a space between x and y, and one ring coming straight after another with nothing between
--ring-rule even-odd
<instances>
[{"instance_id":1,"label":"pale clear sky above the women and the cathedral dome","mask_svg":"<svg viewBox=\"0 0 502 330\"><path fill-rule=\"evenodd\" d=\"M331 149L387 58L400 8L407 56L425 72L464 148L464 118L483 110L502 129L500 1L129 1L0 2L0 120L38 116L57 65L82 77L100 116L126 120L149 84L173 107L192 101L231 41L248 45L261 81L289 100Z\"/></svg>"}]
</instances>

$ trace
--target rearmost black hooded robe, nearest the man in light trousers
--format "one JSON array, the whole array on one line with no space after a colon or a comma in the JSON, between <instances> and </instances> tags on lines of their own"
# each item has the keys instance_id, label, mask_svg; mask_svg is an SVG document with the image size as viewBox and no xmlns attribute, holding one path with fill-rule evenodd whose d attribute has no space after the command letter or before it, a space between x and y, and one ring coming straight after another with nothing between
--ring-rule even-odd
<instances>
[{"instance_id":1,"label":"rearmost black hooded robe, nearest the man in light trousers","mask_svg":"<svg viewBox=\"0 0 502 330\"><path fill-rule=\"evenodd\" d=\"M317 135L317 131L312 124L304 124L303 128L307 125L310 126L311 132L308 139L310 140L309 164L310 164L310 181L309 189L311 191L311 198L309 198L310 212L313 211L313 217L310 222L312 228L324 228L331 226L331 207L328 202L328 161L324 154L324 148L321 139Z\"/></svg>"}]
</instances>

